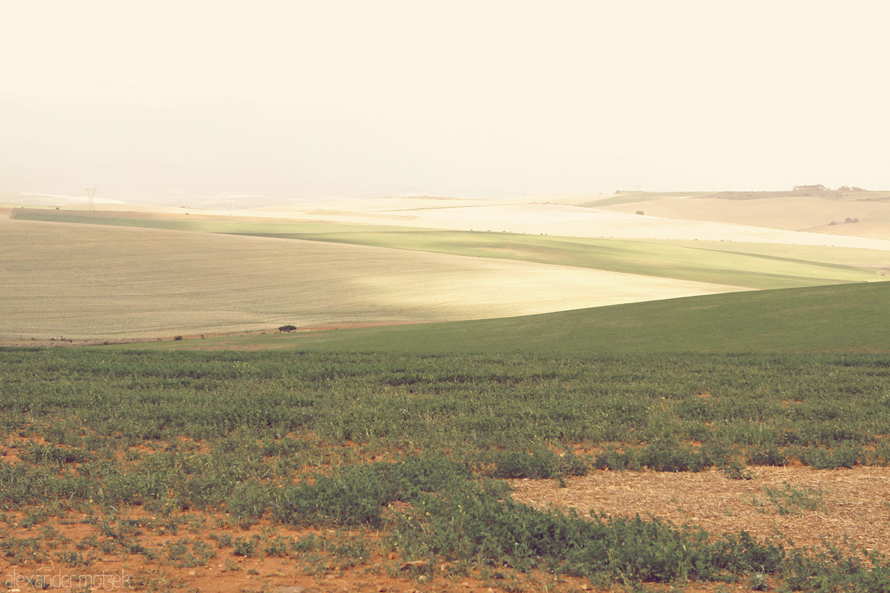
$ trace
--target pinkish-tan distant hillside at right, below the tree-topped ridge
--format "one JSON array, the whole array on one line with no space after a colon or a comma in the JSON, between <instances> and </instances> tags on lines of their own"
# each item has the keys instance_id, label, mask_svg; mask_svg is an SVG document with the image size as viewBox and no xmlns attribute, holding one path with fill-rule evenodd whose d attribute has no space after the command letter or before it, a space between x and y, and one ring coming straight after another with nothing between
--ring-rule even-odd
<instances>
[{"instance_id":1,"label":"pinkish-tan distant hillside at right, below the tree-topped ridge","mask_svg":"<svg viewBox=\"0 0 890 593\"><path fill-rule=\"evenodd\" d=\"M850 236L890 239L890 202L788 197L765 199L660 198L633 204L603 207L605 210L718 223L749 224L785 231L817 231ZM862 226L837 225L858 218ZM869 224L868 233L866 225ZM843 226L843 232L837 227ZM878 227L880 232L878 232Z\"/></svg>"}]
</instances>

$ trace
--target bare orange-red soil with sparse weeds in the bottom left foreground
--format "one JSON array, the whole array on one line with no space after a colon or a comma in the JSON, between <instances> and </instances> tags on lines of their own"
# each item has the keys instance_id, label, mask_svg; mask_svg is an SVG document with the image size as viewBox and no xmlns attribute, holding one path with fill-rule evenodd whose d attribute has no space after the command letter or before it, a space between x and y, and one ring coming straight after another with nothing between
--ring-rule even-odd
<instances>
[{"instance_id":1,"label":"bare orange-red soil with sparse weeds in the bottom left foreground","mask_svg":"<svg viewBox=\"0 0 890 593\"><path fill-rule=\"evenodd\" d=\"M585 584L578 579L560 578L544 574L516 575L510 585L499 587L481 570L468 574L452 573L452 566L445 563L430 566L425 561L402 558L387 552L386 546L377 545L384 534L304 528L295 529L261 521L253 525L230 524L224 514L174 513L169 516L150 515L135 507L116 516L96 508L91 513L70 513L64 517L52 517L37 524L22 526L28 511L19 509L7 515L8 527L0 528L5 546L13 549L6 557L0 557L0 575L10 589L21 591L40 589L48 583L51 588L77 589L84 584L91 590L167 590L216 591L218 593L243 593L245 591L271 591L280 593L354 592L379 593L382 591L441 591L487 593L506 590L537 591L584 590ZM101 524L134 525L132 536L139 546L153 552L153 557L131 553L115 544L117 535L103 532ZM303 540L314 536L316 541L327 541L330 546L350 541L368 544L369 556L356 559L332 554L324 549L307 549L304 552L282 555L258 552L248 556L236 553L233 542L254 541L262 549L276 538ZM46 561L22 561L14 549L17 540L35 538L50 556ZM174 560L169 556L172 547L185 542L191 550L196 541L204 549L212 550L213 557L205 557L199 563ZM326 544L327 545L327 544ZM74 562L66 560L70 555L81 555ZM61 556L61 557L60 557ZM503 577L501 577L503 578ZM538 584L540 582L540 584ZM554 587L555 585L555 587ZM86 589L84 589L86 590Z\"/></svg>"}]
</instances>

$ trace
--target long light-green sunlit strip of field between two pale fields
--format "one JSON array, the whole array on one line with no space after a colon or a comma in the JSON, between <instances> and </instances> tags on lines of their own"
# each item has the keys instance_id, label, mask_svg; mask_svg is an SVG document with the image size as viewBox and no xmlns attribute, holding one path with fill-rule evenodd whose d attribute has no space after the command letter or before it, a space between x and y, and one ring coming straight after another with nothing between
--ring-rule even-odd
<instances>
[{"instance_id":1,"label":"long light-green sunlit strip of field between two pale fields","mask_svg":"<svg viewBox=\"0 0 890 593\"><path fill-rule=\"evenodd\" d=\"M608 272L659 276L744 288L791 288L883 280L871 269L845 265L837 251L861 263L890 265L890 251L756 243L687 241L683 245L652 241L543 236L509 232L468 232L390 224L313 223L302 220L263 221L256 217L168 215L107 211L88 215L69 211L17 211L18 220L90 223L177 231L231 233L279 239L315 240L381 248L401 248L455 256L488 257L570 265ZM776 253L781 255L775 255ZM801 257L789 253L800 253Z\"/></svg>"}]
</instances>

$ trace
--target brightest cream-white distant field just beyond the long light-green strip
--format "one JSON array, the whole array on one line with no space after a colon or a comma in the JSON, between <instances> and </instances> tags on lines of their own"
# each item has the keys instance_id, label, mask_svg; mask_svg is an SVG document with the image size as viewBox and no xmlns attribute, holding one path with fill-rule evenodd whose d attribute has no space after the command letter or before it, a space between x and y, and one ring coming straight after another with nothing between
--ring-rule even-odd
<instances>
[{"instance_id":1,"label":"brightest cream-white distant field just beyond the long light-green strip","mask_svg":"<svg viewBox=\"0 0 890 593\"><path fill-rule=\"evenodd\" d=\"M680 217L659 217L656 212L646 212L645 207L631 205L628 211L572 206L539 199L459 199L441 200L425 198L380 198L328 201L279 207L257 208L244 211L247 215L271 217L295 217L304 220L327 220L338 223L379 223L378 215L404 215L410 219L390 218L387 224L419 226L434 229L491 232L525 232L530 234L561 235L568 237L604 237L615 239L648 240L726 240L785 245L823 245L851 248L890 249L890 240L860 237L821 235L815 232L796 232L768 228L746 223L692 220ZM670 199L685 202L693 199ZM668 201L660 199L657 202ZM702 201L700 199L696 201ZM736 200L728 202L734 207ZM740 200L737 203L766 202L768 200ZM867 202L862 202L868 204ZM858 204L843 202L842 204ZM612 208L612 207L610 207ZM756 208L755 208L756 209ZM323 210L324 214L312 214ZM635 215L643 210L645 215ZM364 213L365 217L362 217ZM850 215L856 217L855 215ZM860 216L862 219L862 216ZM821 220L821 219L820 219ZM841 218L843 220L843 218ZM830 219L824 221L829 223ZM803 228L803 227L799 227ZM833 227L832 227L833 228Z\"/></svg>"}]
</instances>

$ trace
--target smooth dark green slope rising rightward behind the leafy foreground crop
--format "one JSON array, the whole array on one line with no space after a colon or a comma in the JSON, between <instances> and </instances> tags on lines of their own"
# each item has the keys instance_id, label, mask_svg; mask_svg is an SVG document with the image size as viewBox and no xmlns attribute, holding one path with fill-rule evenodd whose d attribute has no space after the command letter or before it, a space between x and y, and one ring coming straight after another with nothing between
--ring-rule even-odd
<instances>
[{"instance_id":1,"label":"smooth dark green slope rising rightward behind the leafy foreground crop","mask_svg":"<svg viewBox=\"0 0 890 593\"><path fill-rule=\"evenodd\" d=\"M175 347L540 353L890 353L890 284L784 288L510 319L242 337ZM171 343L152 347L174 347Z\"/></svg>"}]
</instances>

